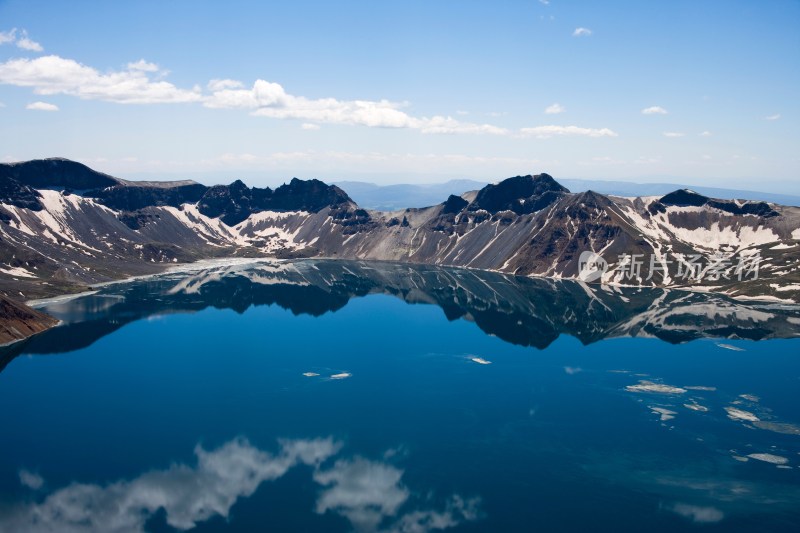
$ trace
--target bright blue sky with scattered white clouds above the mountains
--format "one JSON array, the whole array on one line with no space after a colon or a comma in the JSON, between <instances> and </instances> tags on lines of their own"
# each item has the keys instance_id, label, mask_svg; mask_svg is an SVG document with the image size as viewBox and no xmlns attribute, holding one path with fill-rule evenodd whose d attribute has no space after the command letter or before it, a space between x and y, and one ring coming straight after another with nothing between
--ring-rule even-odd
<instances>
[{"instance_id":1,"label":"bright blue sky with scattered white clouds above the mountains","mask_svg":"<svg viewBox=\"0 0 800 533\"><path fill-rule=\"evenodd\" d=\"M800 193L800 2L0 0L0 160Z\"/></svg>"}]
</instances>

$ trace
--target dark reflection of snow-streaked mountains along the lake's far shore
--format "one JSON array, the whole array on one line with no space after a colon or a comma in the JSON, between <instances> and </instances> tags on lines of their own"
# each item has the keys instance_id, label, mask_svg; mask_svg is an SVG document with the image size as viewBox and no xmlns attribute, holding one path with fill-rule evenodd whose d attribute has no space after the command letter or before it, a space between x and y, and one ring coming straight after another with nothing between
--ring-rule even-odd
<instances>
[{"instance_id":1,"label":"dark reflection of snow-streaked mountains along the lake's far shore","mask_svg":"<svg viewBox=\"0 0 800 533\"><path fill-rule=\"evenodd\" d=\"M449 320L470 320L487 334L538 349L561 334L583 344L625 336L680 343L702 337L761 340L800 335L798 306L426 265L307 260L164 274L50 303L42 309L65 324L18 343L2 357L7 363L22 349L73 351L127 323L165 313L207 307L242 313L251 306L278 305L296 315L320 316L369 294L437 305Z\"/></svg>"}]
</instances>

